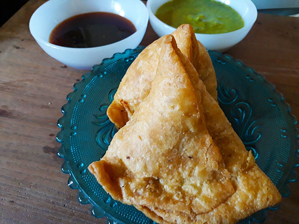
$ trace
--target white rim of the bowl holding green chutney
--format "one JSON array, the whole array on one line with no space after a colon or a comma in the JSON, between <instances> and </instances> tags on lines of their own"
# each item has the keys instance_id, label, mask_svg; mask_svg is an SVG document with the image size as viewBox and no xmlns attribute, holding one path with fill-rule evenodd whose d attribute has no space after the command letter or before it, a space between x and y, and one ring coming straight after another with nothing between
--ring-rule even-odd
<instances>
[{"instance_id":1,"label":"white rim of the bowl holding green chutney","mask_svg":"<svg viewBox=\"0 0 299 224\"><path fill-rule=\"evenodd\" d=\"M152 1L154 0L147 0L147 9L148 9L148 12L149 12L149 20L150 22L152 22L151 18L155 18L157 20L157 22L163 24L164 27L170 29L170 30L173 30L175 31L176 28L175 27L172 27L166 23L164 23L163 21L161 21L160 19L158 19L157 16L155 16L155 13L152 12L152 9L151 9L151 6L152 6ZM167 1L171 1L171 0L167 0ZM214 1L220 1L222 2L222 0L214 0ZM254 16L252 17L251 21L245 26L241 27L240 29L238 30L234 30L234 31L231 31L231 32L226 32L226 33L195 33L196 36L200 36L200 35L203 35L203 36L220 36L220 35L228 35L228 34L233 34L233 33L237 33L237 32L240 32L240 31L243 31L243 30L248 30L249 28L251 28L253 26L253 24L255 23L255 21L257 20L257 8L256 6L254 5L254 3L251 1L251 0L244 0L244 1L247 1L249 5L251 5L254 9ZM222 2L223 4L225 4L225 2ZM162 5L162 4L161 4ZM161 6L160 5L160 6ZM226 4L228 5L228 4ZM229 5L228 5L229 6ZM231 6L230 6L231 7ZM231 7L232 8L232 7ZM241 15L240 15L241 16ZM242 17L242 16L241 16ZM243 19L243 17L242 17Z\"/></svg>"}]
</instances>

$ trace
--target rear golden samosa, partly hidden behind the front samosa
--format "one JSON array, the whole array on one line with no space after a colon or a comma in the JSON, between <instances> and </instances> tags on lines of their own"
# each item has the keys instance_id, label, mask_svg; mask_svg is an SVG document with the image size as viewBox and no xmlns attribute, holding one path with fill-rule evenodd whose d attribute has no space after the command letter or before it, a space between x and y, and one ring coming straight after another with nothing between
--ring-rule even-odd
<instances>
[{"instance_id":1,"label":"rear golden samosa, partly hidden behind the front samosa","mask_svg":"<svg viewBox=\"0 0 299 224\"><path fill-rule=\"evenodd\" d=\"M215 71L207 50L195 37L192 26L183 24L172 35L181 52L199 70L200 79L207 85L211 95L217 100ZM113 102L107 109L111 122L119 129L131 118L139 104L149 94L160 57L162 38L147 46L128 68ZM200 52L199 52L200 51Z\"/></svg>"}]
</instances>

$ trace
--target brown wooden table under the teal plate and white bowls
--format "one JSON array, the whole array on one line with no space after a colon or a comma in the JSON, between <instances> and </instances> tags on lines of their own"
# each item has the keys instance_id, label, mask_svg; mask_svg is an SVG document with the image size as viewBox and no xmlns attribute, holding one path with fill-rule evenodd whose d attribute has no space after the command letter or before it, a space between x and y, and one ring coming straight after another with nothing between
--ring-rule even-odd
<instances>
[{"instance_id":1,"label":"brown wooden table under the teal plate and white bowls","mask_svg":"<svg viewBox=\"0 0 299 224\"><path fill-rule=\"evenodd\" d=\"M86 72L48 56L30 35L30 0L0 28L0 223L106 223L81 205L60 170L60 108ZM245 39L226 53L272 82L299 118L299 18L259 14ZM149 26L141 45L158 36ZM299 169L296 168L299 172ZM267 224L299 223L299 182Z\"/></svg>"}]
</instances>

